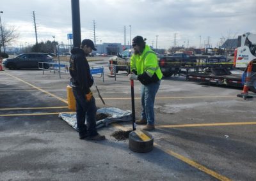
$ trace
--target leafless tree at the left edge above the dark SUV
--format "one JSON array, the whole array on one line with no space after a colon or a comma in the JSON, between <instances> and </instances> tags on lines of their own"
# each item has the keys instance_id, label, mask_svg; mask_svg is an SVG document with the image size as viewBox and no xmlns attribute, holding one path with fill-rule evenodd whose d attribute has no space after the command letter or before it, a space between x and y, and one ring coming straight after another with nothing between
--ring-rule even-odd
<instances>
[{"instance_id":1,"label":"leafless tree at the left edge above the dark SUV","mask_svg":"<svg viewBox=\"0 0 256 181\"><path fill-rule=\"evenodd\" d=\"M6 26L3 25L3 37L0 36L0 52L1 52L1 47L6 46L6 45L11 45L12 42L16 41L17 38L19 38L19 33L17 33L17 28L14 26Z\"/></svg>"}]
</instances>

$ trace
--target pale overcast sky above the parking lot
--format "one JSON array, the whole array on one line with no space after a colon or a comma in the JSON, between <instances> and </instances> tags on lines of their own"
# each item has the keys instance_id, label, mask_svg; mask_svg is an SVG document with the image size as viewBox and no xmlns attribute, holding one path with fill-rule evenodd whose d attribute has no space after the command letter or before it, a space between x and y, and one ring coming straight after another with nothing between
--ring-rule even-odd
<instances>
[{"instance_id":1,"label":"pale overcast sky above the parking lot","mask_svg":"<svg viewBox=\"0 0 256 181\"><path fill-rule=\"evenodd\" d=\"M38 27L38 41L67 44L72 33L71 0L0 0L2 24L17 27L20 37L13 46L35 44L33 11ZM201 47L219 45L221 38L237 38L246 32L256 33L255 0L80 0L81 38L96 43L124 44L141 35L157 48L174 45ZM153 43L154 41L154 43Z\"/></svg>"}]
</instances>

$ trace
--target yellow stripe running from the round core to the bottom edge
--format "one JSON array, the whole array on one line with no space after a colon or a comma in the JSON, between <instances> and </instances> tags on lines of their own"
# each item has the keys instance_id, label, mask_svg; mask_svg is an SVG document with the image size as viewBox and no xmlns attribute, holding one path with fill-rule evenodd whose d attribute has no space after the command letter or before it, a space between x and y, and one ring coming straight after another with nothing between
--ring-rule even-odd
<instances>
[{"instance_id":1,"label":"yellow stripe running from the round core to the bottom edge","mask_svg":"<svg viewBox=\"0 0 256 181\"><path fill-rule=\"evenodd\" d=\"M188 159L187 157L184 157L180 154L177 154L175 152L173 152L170 149L166 149L163 148L162 146L158 145L157 143L154 143L154 146L156 146L157 148L160 148L161 150L163 150L166 154L169 154L177 159L179 159L180 161L183 161L184 163L189 164L190 166L193 166L194 168L204 171L204 173L207 173L208 175L211 175L214 178L217 178L219 180L223 180L223 181L227 181L227 180L231 180L230 178L227 178L223 175L220 175L219 173L216 173L215 171L210 170L209 168L206 168L204 165L196 163L195 161Z\"/></svg>"}]
</instances>

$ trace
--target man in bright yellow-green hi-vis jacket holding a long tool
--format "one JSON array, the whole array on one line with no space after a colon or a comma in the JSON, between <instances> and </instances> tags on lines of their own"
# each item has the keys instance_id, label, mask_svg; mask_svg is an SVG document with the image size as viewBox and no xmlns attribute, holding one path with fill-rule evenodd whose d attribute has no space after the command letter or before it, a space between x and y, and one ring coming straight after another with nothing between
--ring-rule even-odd
<instances>
[{"instance_id":1,"label":"man in bright yellow-green hi-vis jacket holding a long tool","mask_svg":"<svg viewBox=\"0 0 256 181\"><path fill-rule=\"evenodd\" d=\"M146 45L142 36L132 40L134 54L131 57L130 80L141 82L141 119L136 124L147 124L146 131L155 129L154 101L163 74L158 66L157 55Z\"/></svg>"}]
</instances>

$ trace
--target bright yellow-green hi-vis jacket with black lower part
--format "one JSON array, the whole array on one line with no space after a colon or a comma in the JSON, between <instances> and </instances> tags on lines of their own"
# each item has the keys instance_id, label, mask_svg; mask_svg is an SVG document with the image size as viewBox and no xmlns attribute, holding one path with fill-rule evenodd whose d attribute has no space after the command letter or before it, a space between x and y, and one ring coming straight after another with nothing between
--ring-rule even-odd
<instances>
[{"instance_id":1,"label":"bright yellow-green hi-vis jacket with black lower part","mask_svg":"<svg viewBox=\"0 0 256 181\"><path fill-rule=\"evenodd\" d=\"M163 77L157 55L148 45L145 46L141 55L132 55L131 71L138 75L138 80L143 84L157 82Z\"/></svg>"}]
</instances>

